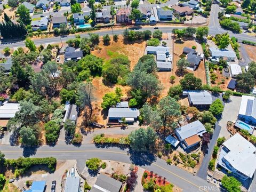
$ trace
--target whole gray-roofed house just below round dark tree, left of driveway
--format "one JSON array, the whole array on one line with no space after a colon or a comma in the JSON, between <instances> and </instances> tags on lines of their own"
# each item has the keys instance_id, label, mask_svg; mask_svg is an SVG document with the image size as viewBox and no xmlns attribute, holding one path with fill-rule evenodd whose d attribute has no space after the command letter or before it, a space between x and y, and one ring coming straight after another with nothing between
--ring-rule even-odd
<instances>
[{"instance_id":1,"label":"whole gray-roofed house just below round dark tree, left of driveway","mask_svg":"<svg viewBox=\"0 0 256 192\"><path fill-rule=\"evenodd\" d=\"M205 108L212 104L212 95L205 90L183 91L183 95L188 95L190 106Z\"/></svg>"}]
</instances>

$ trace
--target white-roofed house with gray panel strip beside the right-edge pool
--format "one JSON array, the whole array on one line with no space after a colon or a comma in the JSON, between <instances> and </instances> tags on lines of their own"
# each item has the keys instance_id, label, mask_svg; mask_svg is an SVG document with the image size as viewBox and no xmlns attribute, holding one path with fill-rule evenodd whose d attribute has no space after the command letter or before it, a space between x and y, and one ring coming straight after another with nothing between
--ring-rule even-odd
<instances>
[{"instance_id":1,"label":"white-roofed house with gray panel strip beside the right-edge pool","mask_svg":"<svg viewBox=\"0 0 256 192\"><path fill-rule=\"evenodd\" d=\"M239 112L238 119L249 124L256 125L256 98L253 96L243 95Z\"/></svg>"}]
</instances>

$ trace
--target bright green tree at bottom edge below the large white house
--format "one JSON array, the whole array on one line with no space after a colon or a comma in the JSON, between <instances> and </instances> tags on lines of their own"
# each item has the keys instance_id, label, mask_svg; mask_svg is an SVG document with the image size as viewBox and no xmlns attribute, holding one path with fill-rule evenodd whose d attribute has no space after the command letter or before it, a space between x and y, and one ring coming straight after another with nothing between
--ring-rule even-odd
<instances>
[{"instance_id":1,"label":"bright green tree at bottom edge below the large white house","mask_svg":"<svg viewBox=\"0 0 256 192\"><path fill-rule=\"evenodd\" d=\"M221 179L221 185L228 191L228 192L240 192L241 191L241 182L238 181L234 177L228 177L224 175Z\"/></svg>"}]
</instances>

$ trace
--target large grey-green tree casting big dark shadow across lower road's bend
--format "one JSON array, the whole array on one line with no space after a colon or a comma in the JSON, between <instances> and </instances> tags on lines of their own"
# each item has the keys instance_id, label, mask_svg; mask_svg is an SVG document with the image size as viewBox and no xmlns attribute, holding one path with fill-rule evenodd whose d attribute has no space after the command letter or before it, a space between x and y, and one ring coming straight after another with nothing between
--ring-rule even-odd
<instances>
[{"instance_id":1,"label":"large grey-green tree casting big dark shadow across lower road's bend","mask_svg":"<svg viewBox=\"0 0 256 192\"><path fill-rule=\"evenodd\" d=\"M156 133L151 127L147 127L147 129L140 128L132 131L128 138L132 150L143 153L154 147Z\"/></svg>"}]
</instances>

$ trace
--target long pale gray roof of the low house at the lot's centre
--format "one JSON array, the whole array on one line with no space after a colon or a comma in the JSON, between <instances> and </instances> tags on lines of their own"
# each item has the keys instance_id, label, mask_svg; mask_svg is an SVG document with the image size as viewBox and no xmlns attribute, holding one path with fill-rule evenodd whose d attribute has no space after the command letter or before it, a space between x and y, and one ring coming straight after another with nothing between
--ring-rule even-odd
<instances>
[{"instance_id":1,"label":"long pale gray roof of the low house at the lot's centre","mask_svg":"<svg viewBox=\"0 0 256 192\"><path fill-rule=\"evenodd\" d=\"M135 108L114 108L108 110L108 117L112 118L137 118L139 110Z\"/></svg>"}]
</instances>

